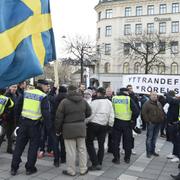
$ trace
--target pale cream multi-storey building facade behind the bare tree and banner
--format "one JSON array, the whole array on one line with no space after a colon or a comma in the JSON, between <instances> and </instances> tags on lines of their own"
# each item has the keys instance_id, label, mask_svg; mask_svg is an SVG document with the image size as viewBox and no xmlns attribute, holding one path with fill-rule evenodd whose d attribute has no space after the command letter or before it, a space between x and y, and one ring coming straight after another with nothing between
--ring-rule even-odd
<instances>
[{"instance_id":1,"label":"pale cream multi-storey building facade behind the bare tree and banner","mask_svg":"<svg viewBox=\"0 0 180 180\"><path fill-rule=\"evenodd\" d=\"M100 85L117 88L123 74L145 73L144 62L140 56L132 56L128 43L128 39L145 34L160 37L158 48L163 49L157 56L159 64L148 73L180 74L180 0L100 0L95 10ZM135 46L142 48L142 43L135 42Z\"/></svg>"}]
</instances>

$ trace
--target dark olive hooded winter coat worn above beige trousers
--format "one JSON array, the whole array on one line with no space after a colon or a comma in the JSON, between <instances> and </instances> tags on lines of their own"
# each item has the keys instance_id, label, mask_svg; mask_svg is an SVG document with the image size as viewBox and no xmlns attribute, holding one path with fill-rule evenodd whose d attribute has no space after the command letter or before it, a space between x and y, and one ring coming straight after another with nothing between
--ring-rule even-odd
<instances>
[{"instance_id":1,"label":"dark olive hooded winter coat worn above beige trousers","mask_svg":"<svg viewBox=\"0 0 180 180\"><path fill-rule=\"evenodd\" d=\"M56 112L55 128L64 139L86 136L85 118L91 115L91 108L83 97L77 93L68 93Z\"/></svg>"}]
</instances>

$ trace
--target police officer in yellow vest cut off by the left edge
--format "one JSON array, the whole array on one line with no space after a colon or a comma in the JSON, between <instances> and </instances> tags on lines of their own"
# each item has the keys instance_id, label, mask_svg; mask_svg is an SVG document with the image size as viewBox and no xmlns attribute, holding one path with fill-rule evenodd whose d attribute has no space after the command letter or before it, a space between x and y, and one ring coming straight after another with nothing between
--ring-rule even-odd
<instances>
[{"instance_id":1,"label":"police officer in yellow vest cut off by the left edge","mask_svg":"<svg viewBox=\"0 0 180 180\"><path fill-rule=\"evenodd\" d=\"M0 89L0 146L3 143L4 136L7 134L8 139L8 145L7 145L7 152L12 152L12 139L11 139L11 133L7 133L8 128L7 127L7 113L9 110L11 110L14 107L14 102L11 100L10 97L6 97L4 94L6 92L6 89Z\"/></svg>"}]
</instances>

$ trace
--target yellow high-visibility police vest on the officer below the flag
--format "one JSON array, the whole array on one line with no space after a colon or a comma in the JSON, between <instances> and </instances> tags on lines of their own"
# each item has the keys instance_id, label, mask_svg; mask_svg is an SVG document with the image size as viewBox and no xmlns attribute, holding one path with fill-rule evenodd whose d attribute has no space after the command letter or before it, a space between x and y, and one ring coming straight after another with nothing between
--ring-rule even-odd
<instances>
[{"instance_id":1,"label":"yellow high-visibility police vest on the officer below the flag","mask_svg":"<svg viewBox=\"0 0 180 180\"><path fill-rule=\"evenodd\" d=\"M24 92L24 102L21 115L32 120L41 120L41 101L46 94L38 89Z\"/></svg>"}]
</instances>

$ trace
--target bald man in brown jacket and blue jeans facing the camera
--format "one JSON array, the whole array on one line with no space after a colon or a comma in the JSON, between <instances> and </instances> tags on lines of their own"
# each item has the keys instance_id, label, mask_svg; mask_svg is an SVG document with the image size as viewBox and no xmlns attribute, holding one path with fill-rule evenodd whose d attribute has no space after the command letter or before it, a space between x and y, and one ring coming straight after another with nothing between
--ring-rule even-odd
<instances>
[{"instance_id":1,"label":"bald man in brown jacket and blue jeans facing the camera","mask_svg":"<svg viewBox=\"0 0 180 180\"><path fill-rule=\"evenodd\" d=\"M159 154L156 153L155 148L160 126L164 121L164 112L160 102L158 102L156 92L151 92L150 99L144 103L142 107L142 116L145 122L147 122L147 158L151 158L152 155L159 156Z\"/></svg>"}]
</instances>

